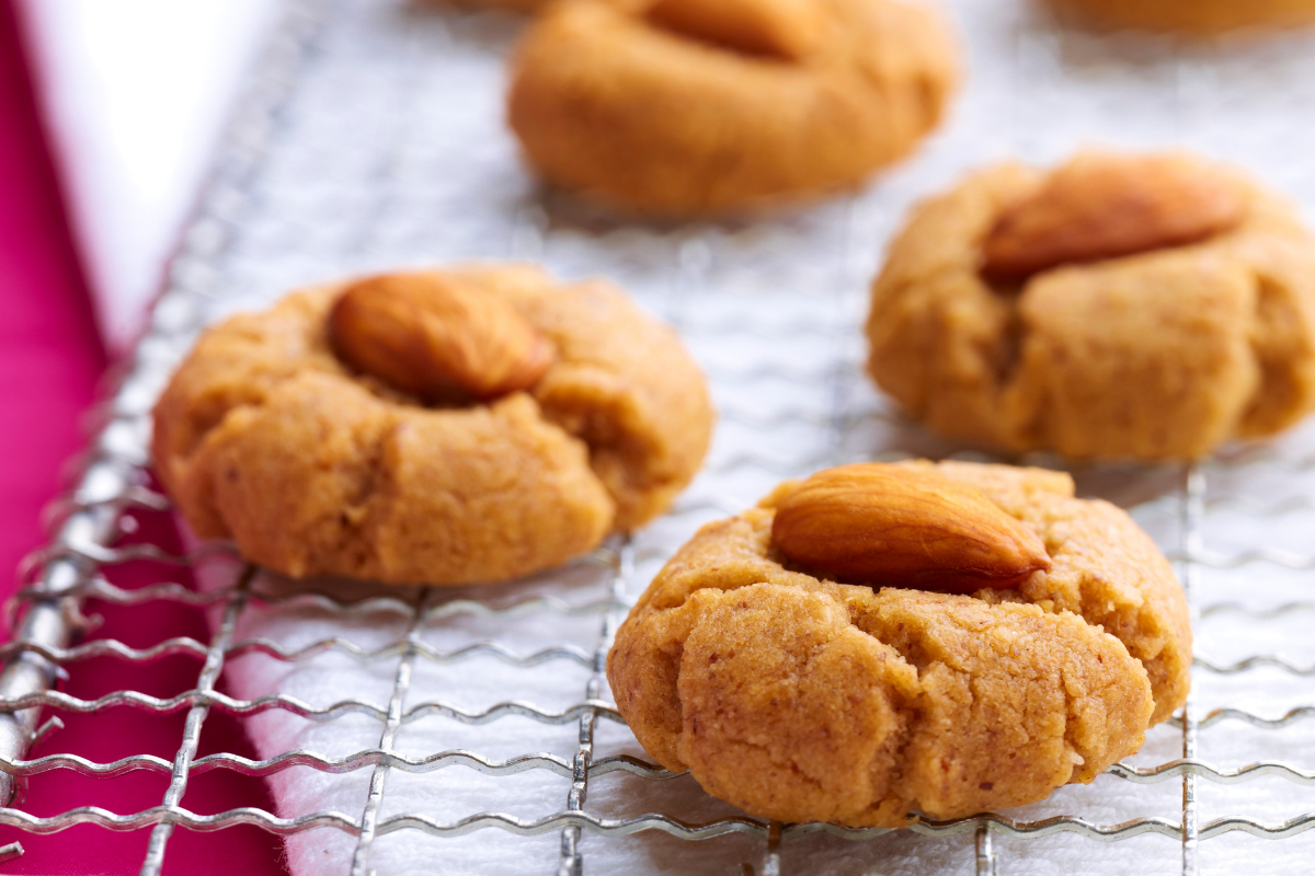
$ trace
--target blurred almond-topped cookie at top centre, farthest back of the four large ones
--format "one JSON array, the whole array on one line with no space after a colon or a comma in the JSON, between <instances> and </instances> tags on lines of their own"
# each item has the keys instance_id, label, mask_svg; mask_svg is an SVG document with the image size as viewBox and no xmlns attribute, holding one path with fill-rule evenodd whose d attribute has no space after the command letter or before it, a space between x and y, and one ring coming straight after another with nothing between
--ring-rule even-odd
<instances>
[{"instance_id":1,"label":"blurred almond-topped cookie at top centre, farthest back of the four large ones","mask_svg":"<svg viewBox=\"0 0 1315 876\"><path fill-rule=\"evenodd\" d=\"M955 79L945 24L903 0L565 0L517 50L508 114L550 181L698 214L857 185Z\"/></svg>"}]
</instances>

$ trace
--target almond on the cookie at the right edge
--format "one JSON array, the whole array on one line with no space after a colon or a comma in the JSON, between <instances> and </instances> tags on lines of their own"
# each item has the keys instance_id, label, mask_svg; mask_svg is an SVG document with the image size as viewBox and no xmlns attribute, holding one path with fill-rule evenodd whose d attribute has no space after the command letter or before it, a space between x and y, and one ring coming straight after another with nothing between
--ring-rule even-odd
<instances>
[{"instance_id":1,"label":"almond on the cookie at the right edge","mask_svg":"<svg viewBox=\"0 0 1315 876\"><path fill-rule=\"evenodd\" d=\"M1023 278L1197 243L1236 226L1239 186L1180 155L1089 152L1006 210L982 247L982 273Z\"/></svg>"}]
</instances>

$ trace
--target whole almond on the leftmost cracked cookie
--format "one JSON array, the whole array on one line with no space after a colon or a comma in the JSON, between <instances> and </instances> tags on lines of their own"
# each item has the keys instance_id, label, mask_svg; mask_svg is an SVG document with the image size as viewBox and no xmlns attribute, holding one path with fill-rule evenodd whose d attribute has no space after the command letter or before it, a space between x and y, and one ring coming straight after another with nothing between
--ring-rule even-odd
<instances>
[{"instance_id":1,"label":"whole almond on the leftmost cracked cookie","mask_svg":"<svg viewBox=\"0 0 1315 876\"><path fill-rule=\"evenodd\" d=\"M329 313L335 352L429 402L484 402L533 387L552 345L512 305L467 280L391 273L347 288Z\"/></svg>"}]
</instances>

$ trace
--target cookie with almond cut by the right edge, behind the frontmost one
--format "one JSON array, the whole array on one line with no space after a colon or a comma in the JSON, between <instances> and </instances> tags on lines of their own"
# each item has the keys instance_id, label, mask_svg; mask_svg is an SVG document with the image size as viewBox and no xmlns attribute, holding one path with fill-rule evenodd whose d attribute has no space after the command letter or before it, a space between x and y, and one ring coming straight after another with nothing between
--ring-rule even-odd
<instances>
[{"instance_id":1,"label":"cookie with almond cut by the right edge, behind the frontmost one","mask_svg":"<svg viewBox=\"0 0 1315 876\"><path fill-rule=\"evenodd\" d=\"M914 208L867 334L873 380L948 435L1198 457L1315 405L1315 240L1184 154L997 165Z\"/></svg>"}]
</instances>

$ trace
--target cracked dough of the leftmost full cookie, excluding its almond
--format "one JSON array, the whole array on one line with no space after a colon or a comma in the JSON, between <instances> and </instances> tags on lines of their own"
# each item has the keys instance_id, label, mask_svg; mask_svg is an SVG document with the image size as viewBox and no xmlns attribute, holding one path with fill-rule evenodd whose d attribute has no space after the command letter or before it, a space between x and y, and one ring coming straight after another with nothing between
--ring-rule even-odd
<instances>
[{"instance_id":1,"label":"cracked dough of the leftmost full cookie, excluding its almond","mask_svg":"<svg viewBox=\"0 0 1315 876\"><path fill-rule=\"evenodd\" d=\"M667 510L713 411L668 327L600 280L455 269L556 348L530 393L435 408L330 348L346 282L206 331L155 407L156 471L192 528L287 575L505 580Z\"/></svg>"}]
</instances>

